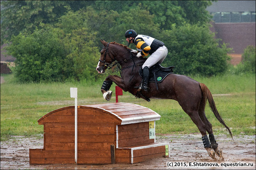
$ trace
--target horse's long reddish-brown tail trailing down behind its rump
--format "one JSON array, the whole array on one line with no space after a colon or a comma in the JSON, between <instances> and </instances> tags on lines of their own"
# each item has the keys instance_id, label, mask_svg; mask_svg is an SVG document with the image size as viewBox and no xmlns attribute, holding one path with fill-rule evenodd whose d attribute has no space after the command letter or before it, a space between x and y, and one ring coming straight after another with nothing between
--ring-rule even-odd
<instances>
[{"instance_id":1,"label":"horse's long reddish-brown tail trailing down behind its rump","mask_svg":"<svg viewBox=\"0 0 256 170\"><path fill-rule=\"evenodd\" d=\"M201 87L201 91L202 91L202 97L203 97L203 100L204 101L204 106L206 104L206 100L208 100L208 103L209 103L209 106L210 106L210 109L211 111L214 113L215 117L218 119L218 121L223 125L225 126L226 128L226 131L229 132L230 136L232 137L233 139L233 136L232 136L232 133L229 129L229 127L225 124L225 122L223 121L223 119L221 118L216 106L215 106L215 102L213 100L213 97L212 97L212 94L210 92L210 90L208 89L208 87L206 85L204 85L203 83L200 83L200 87Z\"/></svg>"}]
</instances>

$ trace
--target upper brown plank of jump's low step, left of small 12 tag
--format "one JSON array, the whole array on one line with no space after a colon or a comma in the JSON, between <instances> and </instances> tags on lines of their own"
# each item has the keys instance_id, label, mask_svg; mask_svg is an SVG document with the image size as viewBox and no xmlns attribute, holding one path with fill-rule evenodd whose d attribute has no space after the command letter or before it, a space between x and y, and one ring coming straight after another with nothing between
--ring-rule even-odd
<instances>
[{"instance_id":1,"label":"upper brown plank of jump's low step, left of small 12 tag","mask_svg":"<svg viewBox=\"0 0 256 170\"><path fill-rule=\"evenodd\" d=\"M162 153L165 155L165 146L133 150L133 157L139 157L139 156L151 155L151 154L157 154L157 153Z\"/></svg>"}]
</instances>

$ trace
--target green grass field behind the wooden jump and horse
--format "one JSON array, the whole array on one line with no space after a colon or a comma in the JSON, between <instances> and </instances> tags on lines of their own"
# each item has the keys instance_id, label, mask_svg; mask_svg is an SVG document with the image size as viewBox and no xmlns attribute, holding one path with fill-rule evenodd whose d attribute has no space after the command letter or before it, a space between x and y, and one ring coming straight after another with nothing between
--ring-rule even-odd
<instances>
[{"instance_id":1,"label":"green grass field behind the wooden jump and horse","mask_svg":"<svg viewBox=\"0 0 256 170\"><path fill-rule=\"evenodd\" d=\"M55 109L74 105L70 98L70 87L78 88L78 105L115 102L115 84L112 85L112 99L106 101L101 94L103 80L98 82L67 82L19 84L14 76L4 76L1 84L1 141L11 135L34 136L43 134L43 126L37 120ZM213 94L216 107L234 135L255 135L255 74L223 75L211 78L192 77L208 86ZM229 95L217 95L229 94ZM156 133L189 134L199 132L175 100L155 100L147 102L136 99L128 92L119 96L119 102L135 103L148 107L161 115L156 121ZM206 116L212 123L215 134L226 134L209 106Z\"/></svg>"}]
</instances>

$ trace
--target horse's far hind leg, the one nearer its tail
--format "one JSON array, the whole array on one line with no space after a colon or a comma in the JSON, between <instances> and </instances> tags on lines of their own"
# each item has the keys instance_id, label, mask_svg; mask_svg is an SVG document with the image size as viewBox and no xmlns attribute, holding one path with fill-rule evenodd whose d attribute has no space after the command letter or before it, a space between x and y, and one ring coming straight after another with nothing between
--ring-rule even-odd
<instances>
[{"instance_id":1,"label":"horse's far hind leg, the one nearer its tail","mask_svg":"<svg viewBox=\"0 0 256 170\"><path fill-rule=\"evenodd\" d=\"M206 131L209 133L209 139L210 139L210 143L211 143L211 148L214 150L215 154L218 157L222 157L222 151L218 149L218 143L216 143L215 137L213 135L213 131L212 131L212 125L211 123L208 121L207 117L205 116L205 112L204 112L204 105L202 105L202 103L199 106L199 111L198 114L201 118L201 120L204 122L205 124L205 129Z\"/></svg>"}]
</instances>

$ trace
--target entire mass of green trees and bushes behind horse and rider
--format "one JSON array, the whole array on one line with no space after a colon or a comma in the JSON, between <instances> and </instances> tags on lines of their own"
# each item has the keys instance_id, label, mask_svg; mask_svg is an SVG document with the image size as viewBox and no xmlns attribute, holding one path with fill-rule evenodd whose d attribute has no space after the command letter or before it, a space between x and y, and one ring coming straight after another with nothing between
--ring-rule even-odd
<instances>
[{"instance_id":1,"label":"entire mass of green trees and bushes behind horse and rider","mask_svg":"<svg viewBox=\"0 0 256 170\"><path fill-rule=\"evenodd\" d=\"M227 68L229 49L225 44L219 47L205 24L209 19L205 8L210 4L210 1L128 1L125 4L121 1L4 1L1 35L5 36L1 40L12 35L7 51L17 58L15 73L21 82L101 78L104 75L95 71L102 48L100 39L127 44L124 33L128 29L163 41L169 50L163 65L175 65L175 73L217 75ZM14 13L10 7L16 9ZM9 20L13 27L9 27ZM135 48L134 44L129 47ZM118 69L106 72L113 73L118 74Z\"/></svg>"}]
</instances>

